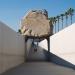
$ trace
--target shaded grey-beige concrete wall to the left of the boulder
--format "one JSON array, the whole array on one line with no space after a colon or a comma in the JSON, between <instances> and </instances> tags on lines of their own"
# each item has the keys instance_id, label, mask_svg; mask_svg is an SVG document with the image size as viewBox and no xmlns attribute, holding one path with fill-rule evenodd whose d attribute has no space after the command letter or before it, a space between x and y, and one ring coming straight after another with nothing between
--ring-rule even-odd
<instances>
[{"instance_id":1,"label":"shaded grey-beige concrete wall to the left of the boulder","mask_svg":"<svg viewBox=\"0 0 75 75\"><path fill-rule=\"evenodd\" d=\"M0 73L24 62L24 37L0 22Z\"/></svg>"}]
</instances>

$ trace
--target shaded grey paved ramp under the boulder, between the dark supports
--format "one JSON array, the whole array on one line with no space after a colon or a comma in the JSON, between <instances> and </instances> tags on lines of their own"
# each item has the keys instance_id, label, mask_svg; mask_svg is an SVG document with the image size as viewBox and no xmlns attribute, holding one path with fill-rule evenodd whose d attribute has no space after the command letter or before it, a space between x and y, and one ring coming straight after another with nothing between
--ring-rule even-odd
<instances>
[{"instance_id":1,"label":"shaded grey paved ramp under the boulder, between the dark supports","mask_svg":"<svg viewBox=\"0 0 75 75\"><path fill-rule=\"evenodd\" d=\"M27 60L29 61L46 61L47 60L47 51L44 51L42 48L38 47L35 51L32 47L29 51Z\"/></svg>"}]
</instances>

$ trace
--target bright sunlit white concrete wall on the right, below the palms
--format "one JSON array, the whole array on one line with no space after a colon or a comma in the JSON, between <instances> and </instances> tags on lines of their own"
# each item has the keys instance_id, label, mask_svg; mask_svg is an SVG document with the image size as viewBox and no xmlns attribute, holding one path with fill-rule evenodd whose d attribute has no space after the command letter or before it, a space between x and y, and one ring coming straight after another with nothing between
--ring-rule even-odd
<instances>
[{"instance_id":1,"label":"bright sunlit white concrete wall on the right, below the palms","mask_svg":"<svg viewBox=\"0 0 75 75\"><path fill-rule=\"evenodd\" d=\"M40 46L47 49L46 40ZM50 51L75 65L75 23L51 36Z\"/></svg>"}]
</instances>

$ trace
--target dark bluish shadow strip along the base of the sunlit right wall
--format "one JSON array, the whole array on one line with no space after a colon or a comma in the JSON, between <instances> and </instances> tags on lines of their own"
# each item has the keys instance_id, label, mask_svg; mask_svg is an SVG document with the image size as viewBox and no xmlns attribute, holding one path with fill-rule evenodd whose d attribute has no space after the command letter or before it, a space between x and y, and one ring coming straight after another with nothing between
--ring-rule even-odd
<instances>
[{"instance_id":1,"label":"dark bluish shadow strip along the base of the sunlit right wall","mask_svg":"<svg viewBox=\"0 0 75 75\"><path fill-rule=\"evenodd\" d=\"M49 62L52 62L52 63L60 65L60 66L64 66L64 67L67 67L67 68L72 68L72 69L75 70L74 64L56 56L55 54L47 52L46 50L44 50L44 54L47 57Z\"/></svg>"}]
</instances>

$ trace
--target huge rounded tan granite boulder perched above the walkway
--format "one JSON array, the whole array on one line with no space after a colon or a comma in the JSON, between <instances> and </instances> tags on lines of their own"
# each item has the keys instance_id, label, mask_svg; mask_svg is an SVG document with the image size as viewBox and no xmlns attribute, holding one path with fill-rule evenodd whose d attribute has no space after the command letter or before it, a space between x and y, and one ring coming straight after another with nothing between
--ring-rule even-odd
<instances>
[{"instance_id":1,"label":"huge rounded tan granite boulder perched above the walkway","mask_svg":"<svg viewBox=\"0 0 75 75\"><path fill-rule=\"evenodd\" d=\"M27 36L50 35L50 21L46 10L31 10L21 20L21 32Z\"/></svg>"}]
</instances>

